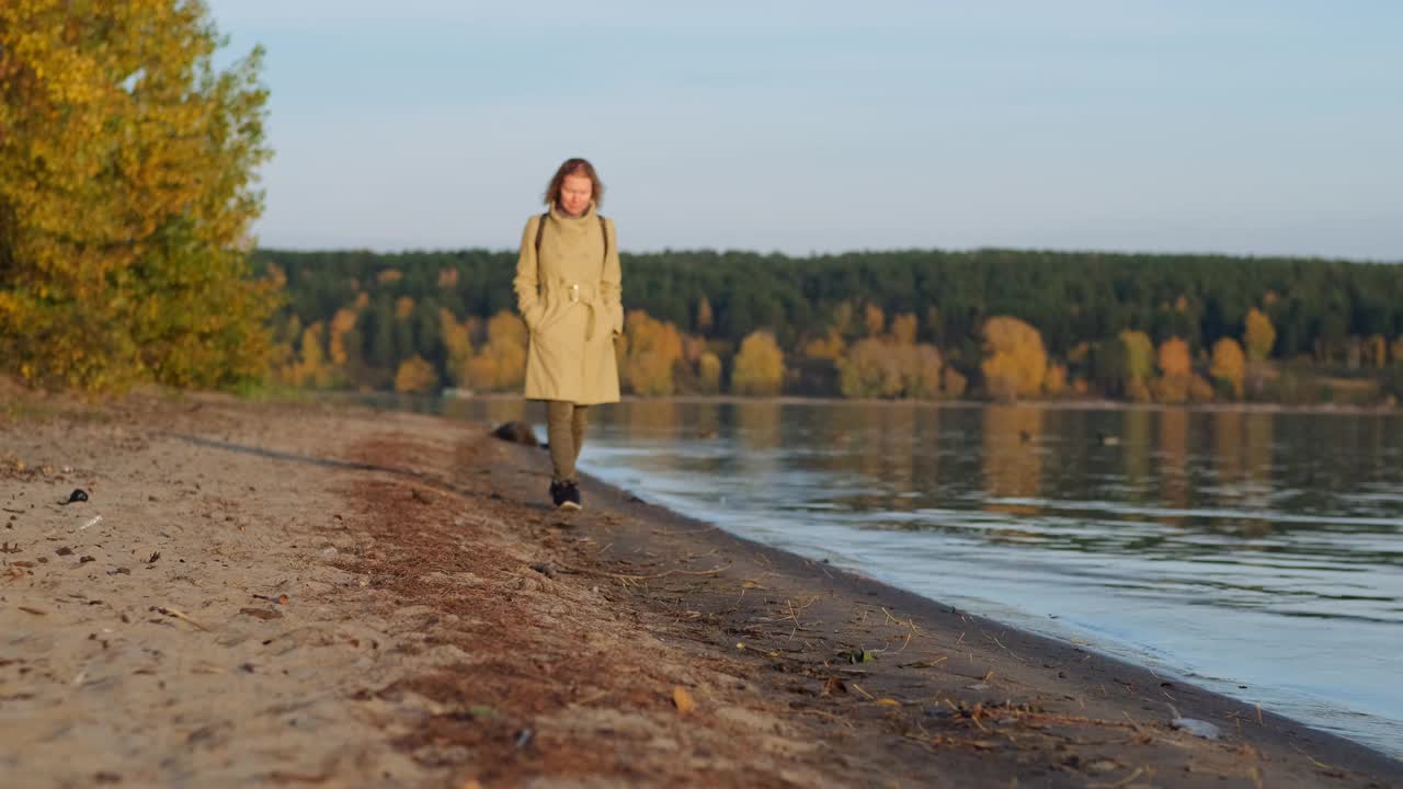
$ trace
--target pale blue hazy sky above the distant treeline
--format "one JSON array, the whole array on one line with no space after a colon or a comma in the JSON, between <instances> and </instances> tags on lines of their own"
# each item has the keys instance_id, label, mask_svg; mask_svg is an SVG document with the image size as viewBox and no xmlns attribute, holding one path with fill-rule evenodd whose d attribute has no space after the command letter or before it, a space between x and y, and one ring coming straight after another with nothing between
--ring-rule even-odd
<instances>
[{"instance_id":1,"label":"pale blue hazy sky above the distant treeline","mask_svg":"<svg viewBox=\"0 0 1403 789\"><path fill-rule=\"evenodd\" d=\"M1393 0L210 0L268 49L264 246L1403 260Z\"/></svg>"}]
</instances>

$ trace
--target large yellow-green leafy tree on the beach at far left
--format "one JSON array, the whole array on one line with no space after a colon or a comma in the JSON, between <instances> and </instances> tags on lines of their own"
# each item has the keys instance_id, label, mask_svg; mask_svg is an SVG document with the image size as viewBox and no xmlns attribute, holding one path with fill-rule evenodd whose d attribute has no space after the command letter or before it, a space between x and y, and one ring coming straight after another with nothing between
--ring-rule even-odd
<instances>
[{"instance_id":1,"label":"large yellow-green leafy tree on the beach at far left","mask_svg":"<svg viewBox=\"0 0 1403 789\"><path fill-rule=\"evenodd\" d=\"M262 375L262 53L203 3L0 3L0 369L43 386Z\"/></svg>"}]
</instances>

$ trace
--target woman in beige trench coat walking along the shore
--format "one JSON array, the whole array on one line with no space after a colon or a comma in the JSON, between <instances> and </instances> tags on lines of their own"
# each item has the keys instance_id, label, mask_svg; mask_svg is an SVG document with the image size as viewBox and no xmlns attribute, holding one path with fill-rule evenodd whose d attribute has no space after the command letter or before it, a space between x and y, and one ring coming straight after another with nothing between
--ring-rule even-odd
<instances>
[{"instance_id":1,"label":"woman in beige trench coat walking along the shore","mask_svg":"<svg viewBox=\"0 0 1403 789\"><path fill-rule=\"evenodd\" d=\"M567 159L546 187L516 258L516 306L526 320L526 399L546 400L550 497L579 510L575 459L588 409L619 402L613 340L623 333L619 243L599 215L603 184L589 161Z\"/></svg>"}]
</instances>

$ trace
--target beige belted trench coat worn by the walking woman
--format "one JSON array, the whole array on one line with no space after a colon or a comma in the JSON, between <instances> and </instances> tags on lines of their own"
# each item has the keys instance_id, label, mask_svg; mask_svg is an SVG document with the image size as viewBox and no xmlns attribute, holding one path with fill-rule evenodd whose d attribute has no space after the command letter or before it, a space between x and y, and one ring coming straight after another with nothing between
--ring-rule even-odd
<instances>
[{"instance_id":1,"label":"beige belted trench coat worn by the walking woman","mask_svg":"<svg viewBox=\"0 0 1403 789\"><path fill-rule=\"evenodd\" d=\"M593 204L578 219L551 208L537 258L540 222L540 215L526 222L512 281L516 306L530 330L526 397L581 406L617 403L613 338L623 333L623 303L613 222L606 219L600 227Z\"/></svg>"}]
</instances>

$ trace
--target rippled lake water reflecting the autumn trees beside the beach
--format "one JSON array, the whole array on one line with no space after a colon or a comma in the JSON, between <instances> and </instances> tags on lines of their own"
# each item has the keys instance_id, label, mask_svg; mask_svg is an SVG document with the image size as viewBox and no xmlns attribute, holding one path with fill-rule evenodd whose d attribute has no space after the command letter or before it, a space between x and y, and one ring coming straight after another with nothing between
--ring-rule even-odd
<instances>
[{"instance_id":1,"label":"rippled lake water reflecting the autumn trees beside the beach","mask_svg":"<svg viewBox=\"0 0 1403 789\"><path fill-rule=\"evenodd\" d=\"M581 468L1403 757L1400 416L631 402Z\"/></svg>"}]
</instances>

